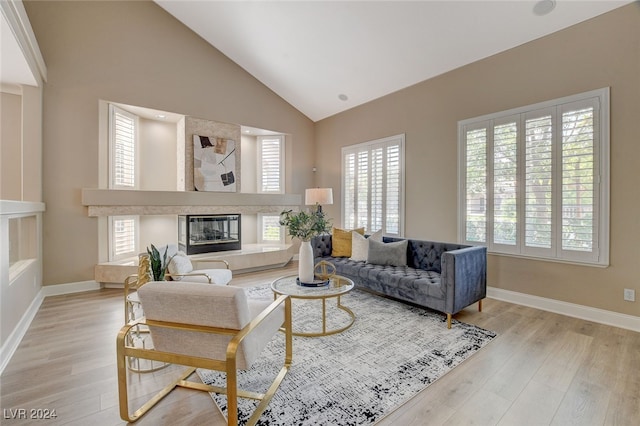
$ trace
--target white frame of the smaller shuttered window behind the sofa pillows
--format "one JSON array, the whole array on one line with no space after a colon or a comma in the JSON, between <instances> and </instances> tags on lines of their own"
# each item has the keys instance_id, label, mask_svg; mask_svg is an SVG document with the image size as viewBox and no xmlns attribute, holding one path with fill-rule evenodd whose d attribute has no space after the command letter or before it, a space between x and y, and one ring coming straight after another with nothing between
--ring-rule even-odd
<instances>
[{"instance_id":1,"label":"white frame of the smaller shuttered window behind the sofa pillows","mask_svg":"<svg viewBox=\"0 0 640 426\"><path fill-rule=\"evenodd\" d=\"M372 167L371 167L371 162L369 160L370 155L368 155L368 163L366 166L367 169L367 197L366 197L366 213L367 213L367 220L366 220L366 224L362 224L358 222L358 214L357 214L357 207L354 207L356 210L355 213L355 217L353 219L353 221L351 221L350 219L347 218L347 214L349 213L349 210L347 209L347 203L349 203L350 205L352 204L353 206L358 206L358 205L362 205L360 203L361 200L358 199L358 193L359 191L355 191L354 194L348 194L347 193L347 186L348 186L348 178L350 176L350 174L347 173L347 156L349 155L355 155L356 157L358 157L359 155L362 155L362 153L368 153L370 154L372 152L373 149L377 149L377 148L383 148L383 149L388 149L389 147L393 147L393 146L397 146L398 147L398 195L397 195L397 204L394 203L394 207L397 208L398 210L398 218L397 218L397 232L390 232L388 224L389 224L389 216L386 214L387 212L387 207L389 205L388 203L388 192L387 192L387 183L388 180L385 180L385 177L387 177L387 167L388 167L388 163L383 165L383 176L382 176L382 194L380 195L381 197L381 202L380 202L380 211L381 211L381 217L380 217L380 221L381 221L381 229L384 235L388 235L388 236L393 236L393 237L403 237L404 236L404 228L405 228L405 134L401 133L398 135L394 135L394 136L389 136L386 138L381 138L381 139L376 139L376 140L372 140L372 141L367 141L367 142L362 142L359 144L355 144L355 145L349 145L349 146L345 146L342 148L342 154L341 154L341 173L342 173L342 178L341 178L341 184L342 184L342 202L341 202L341 218L342 218L342 224L344 227L346 228L360 228L360 227L364 227L365 228L365 232L366 233L373 233L373 232L377 232L379 229L370 229L371 224L372 224L372 218L371 218L371 176L372 176ZM387 154L383 154L383 155L387 155ZM354 163L354 168L358 169L358 165L356 165L356 163ZM361 169L362 170L362 169ZM357 173L354 174L354 176L357 175ZM356 183L354 183L354 185L357 185ZM353 200L353 203L351 203L350 199ZM377 226L376 226L377 228Z\"/></svg>"}]
</instances>

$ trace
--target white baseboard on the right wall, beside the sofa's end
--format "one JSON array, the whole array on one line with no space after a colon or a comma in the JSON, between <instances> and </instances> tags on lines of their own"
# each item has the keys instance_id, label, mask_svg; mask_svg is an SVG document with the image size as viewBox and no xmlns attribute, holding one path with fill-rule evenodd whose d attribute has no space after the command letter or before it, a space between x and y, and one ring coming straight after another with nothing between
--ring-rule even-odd
<instances>
[{"instance_id":1,"label":"white baseboard on the right wall, beside the sofa's end","mask_svg":"<svg viewBox=\"0 0 640 426\"><path fill-rule=\"evenodd\" d=\"M532 296L530 294L503 290L495 287L487 287L487 297L560 315L566 315L573 318L580 318L587 321L640 332L640 317L633 315L606 311L604 309L577 305L575 303L568 303L555 299Z\"/></svg>"}]
</instances>

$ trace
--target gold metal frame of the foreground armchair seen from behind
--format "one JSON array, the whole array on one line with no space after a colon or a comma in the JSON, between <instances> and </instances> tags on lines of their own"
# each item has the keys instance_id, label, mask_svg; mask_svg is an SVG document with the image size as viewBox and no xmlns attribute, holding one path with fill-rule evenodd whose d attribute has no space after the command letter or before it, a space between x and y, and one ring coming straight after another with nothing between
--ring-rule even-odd
<instances>
[{"instance_id":1,"label":"gold metal frame of the foreground armchair seen from behind","mask_svg":"<svg viewBox=\"0 0 640 426\"><path fill-rule=\"evenodd\" d=\"M284 324L281 329L285 334L285 359L284 365L280 369L274 381L269 386L269 389L263 393L250 392L238 389L236 356L240 348L240 343L250 333L270 315L276 308L284 304L285 315ZM214 333L232 336L231 341L227 345L226 360L216 360L201 357L193 357L188 355L182 355L171 352L162 352L154 349L136 348L128 344L128 334L134 330L134 327L139 324L146 324L153 327L165 327L175 330L183 331L195 331L200 333ZM289 296L280 296L273 303L271 303L265 310L263 310L258 316L250 321L241 330L232 330L218 327L206 327L197 325L187 325L180 323L171 323L164 321L152 321L152 320L140 320L138 322L130 323L120 329L118 337L116 339L116 352L117 352L117 365L118 365L118 394L120 402L120 417L128 422L135 422L153 406L155 406L162 398L167 396L176 387L185 387L189 389L195 389L205 392L216 392L227 395L227 424L229 426L236 426L238 424L238 397L250 398L259 400L260 403L254 410L253 414L249 418L247 425L255 425L267 408L271 398L275 394L276 390L280 386L282 379L286 376L291 366L291 360L293 355L292 349L292 332L291 332L291 298ZM156 360L165 363L179 364L188 366L180 377L168 384L156 395L154 395L149 401L144 403L133 413L129 411L129 395L127 384L127 357L136 357L142 359ZM195 372L197 368L204 368L208 370L216 370L226 373L226 387L210 386L203 383L191 382L186 379ZM214 401L215 403L215 401ZM216 404L217 406L217 404ZM218 407L220 410L220 407Z\"/></svg>"}]
</instances>

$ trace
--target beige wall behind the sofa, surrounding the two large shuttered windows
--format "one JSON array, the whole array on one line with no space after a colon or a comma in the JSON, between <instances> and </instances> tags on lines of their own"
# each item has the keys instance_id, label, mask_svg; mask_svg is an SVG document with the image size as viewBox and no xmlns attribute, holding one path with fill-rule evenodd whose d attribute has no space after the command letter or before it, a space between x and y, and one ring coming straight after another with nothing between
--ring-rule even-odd
<instances>
[{"instance_id":1,"label":"beige wall behind the sofa, surrounding the two large shuttered windows","mask_svg":"<svg viewBox=\"0 0 640 426\"><path fill-rule=\"evenodd\" d=\"M340 200L340 149L406 133L406 235L457 240L457 122L611 87L611 266L489 256L489 285L640 315L640 5L459 68L316 123L318 185ZM335 218L340 206L327 206ZM336 220L336 223L339 219Z\"/></svg>"}]
</instances>

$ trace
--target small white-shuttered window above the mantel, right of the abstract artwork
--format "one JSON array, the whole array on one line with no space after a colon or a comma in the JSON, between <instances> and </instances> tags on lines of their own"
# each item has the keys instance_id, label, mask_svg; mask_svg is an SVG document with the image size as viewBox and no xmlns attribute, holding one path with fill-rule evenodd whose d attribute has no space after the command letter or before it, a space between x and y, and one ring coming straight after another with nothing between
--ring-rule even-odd
<instances>
[{"instance_id":1,"label":"small white-shuttered window above the mantel, right of the abstract artwork","mask_svg":"<svg viewBox=\"0 0 640 426\"><path fill-rule=\"evenodd\" d=\"M258 192L284 193L284 137L258 136Z\"/></svg>"}]
</instances>

